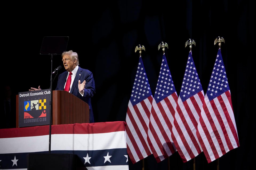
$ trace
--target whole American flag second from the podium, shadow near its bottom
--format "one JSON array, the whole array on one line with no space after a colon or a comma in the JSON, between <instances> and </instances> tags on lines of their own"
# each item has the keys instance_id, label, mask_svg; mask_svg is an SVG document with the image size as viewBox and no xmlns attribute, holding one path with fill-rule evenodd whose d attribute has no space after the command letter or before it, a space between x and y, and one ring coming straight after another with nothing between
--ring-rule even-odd
<instances>
[{"instance_id":1,"label":"whole American flag second from the podium, shadow near its bottom","mask_svg":"<svg viewBox=\"0 0 256 170\"><path fill-rule=\"evenodd\" d=\"M173 122L176 101L177 93L165 54L163 54L148 131L151 141L150 147L157 162L168 158L177 151L171 138L171 123Z\"/></svg>"}]
</instances>

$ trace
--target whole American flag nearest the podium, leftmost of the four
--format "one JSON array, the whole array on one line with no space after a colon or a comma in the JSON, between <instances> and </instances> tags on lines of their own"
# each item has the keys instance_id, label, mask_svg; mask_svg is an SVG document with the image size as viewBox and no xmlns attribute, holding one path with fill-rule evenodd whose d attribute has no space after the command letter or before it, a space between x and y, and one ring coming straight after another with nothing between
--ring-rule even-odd
<instances>
[{"instance_id":1,"label":"whole American flag nearest the podium, leftmost of the four","mask_svg":"<svg viewBox=\"0 0 256 170\"><path fill-rule=\"evenodd\" d=\"M147 141L152 100L149 81L140 56L126 113L127 152L132 163L152 154Z\"/></svg>"}]
</instances>

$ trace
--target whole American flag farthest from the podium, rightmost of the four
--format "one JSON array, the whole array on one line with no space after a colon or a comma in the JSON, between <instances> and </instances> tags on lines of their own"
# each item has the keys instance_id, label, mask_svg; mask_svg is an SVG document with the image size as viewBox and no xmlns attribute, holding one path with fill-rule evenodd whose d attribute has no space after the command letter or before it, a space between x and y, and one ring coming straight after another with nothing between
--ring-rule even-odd
<instances>
[{"instance_id":1,"label":"whole American flag farthest from the podium, rightmost of the four","mask_svg":"<svg viewBox=\"0 0 256 170\"><path fill-rule=\"evenodd\" d=\"M239 146L221 49L218 50L201 109L197 137L208 163Z\"/></svg>"}]
</instances>

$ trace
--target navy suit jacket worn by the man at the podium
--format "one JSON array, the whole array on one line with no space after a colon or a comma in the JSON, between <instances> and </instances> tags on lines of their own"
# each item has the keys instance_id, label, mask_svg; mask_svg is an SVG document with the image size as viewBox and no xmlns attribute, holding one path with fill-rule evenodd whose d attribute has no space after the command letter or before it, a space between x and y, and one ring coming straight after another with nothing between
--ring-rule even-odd
<instances>
[{"instance_id":1,"label":"navy suit jacket worn by the man at the podium","mask_svg":"<svg viewBox=\"0 0 256 170\"><path fill-rule=\"evenodd\" d=\"M57 87L55 90L64 90L64 85L66 83L68 73L69 73L68 71L65 71L64 73L61 73L59 75ZM84 80L86 81L83 96L79 93L79 90L78 90L78 80L80 80L81 83ZM70 93L82 99L89 105L90 123L93 123L94 117L93 117L93 110L91 107L91 97L93 97L93 95L95 94L95 83L94 83L93 74L89 70L78 67L77 74L75 75L75 79L72 84Z\"/></svg>"}]
</instances>

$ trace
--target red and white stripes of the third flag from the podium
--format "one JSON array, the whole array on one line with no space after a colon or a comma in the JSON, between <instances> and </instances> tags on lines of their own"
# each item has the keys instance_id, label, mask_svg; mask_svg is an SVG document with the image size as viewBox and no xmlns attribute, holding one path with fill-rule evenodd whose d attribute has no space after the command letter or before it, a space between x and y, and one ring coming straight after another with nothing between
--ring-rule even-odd
<instances>
[{"instance_id":1,"label":"red and white stripes of the third flag from the podium","mask_svg":"<svg viewBox=\"0 0 256 170\"><path fill-rule=\"evenodd\" d=\"M178 98L176 107L173 135L175 136L175 146L183 162L193 159L202 152L202 148L197 138L196 130L201 107L203 105L203 91L191 96L184 102Z\"/></svg>"}]
</instances>

